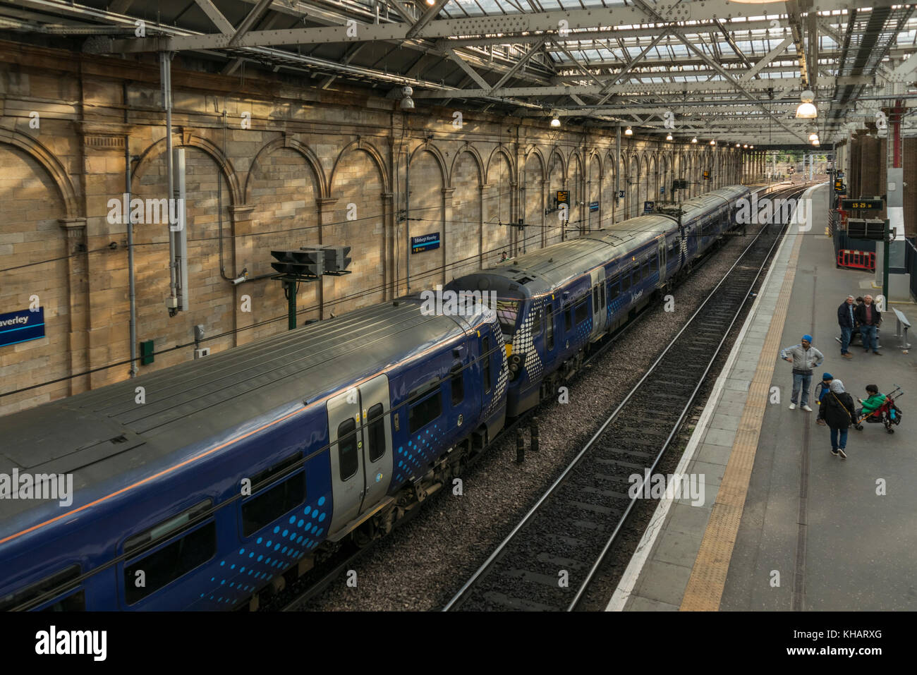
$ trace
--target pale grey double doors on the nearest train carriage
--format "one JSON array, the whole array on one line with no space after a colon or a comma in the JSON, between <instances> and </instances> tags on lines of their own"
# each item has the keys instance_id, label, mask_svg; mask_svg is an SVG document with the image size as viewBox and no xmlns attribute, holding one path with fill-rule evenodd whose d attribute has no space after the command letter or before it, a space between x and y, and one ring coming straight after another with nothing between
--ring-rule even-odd
<instances>
[{"instance_id":1,"label":"pale grey double doors on the nearest train carriage","mask_svg":"<svg viewBox=\"0 0 917 675\"><path fill-rule=\"evenodd\" d=\"M392 478L391 408L385 375L328 400L332 533L388 492Z\"/></svg>"}]
</instances>

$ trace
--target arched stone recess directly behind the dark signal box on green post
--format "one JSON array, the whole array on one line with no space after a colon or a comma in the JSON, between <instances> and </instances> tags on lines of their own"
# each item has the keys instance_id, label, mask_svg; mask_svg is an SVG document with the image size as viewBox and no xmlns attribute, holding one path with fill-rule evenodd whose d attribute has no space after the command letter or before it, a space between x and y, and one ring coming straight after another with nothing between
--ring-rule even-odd
<instances>
[{"instance_id":1,"label":"arched stone recess directly behind the dark signal box on green post","mask_svg":"<svg viewBox=\"0 0 917 675\"><path fill-rule=\"evenodd\" d=\"M245 267L249 276L268 274L273 272L271 249L319 246L326 194L321 164L311 150L289 137L276 138L265 145L251 163L245 183L246 208L238 209L232 226L235 260L240 267L227 269L226 273L235 276ZM359 205L351 215L359 219ZM296 294L300 324L319 317L319 285L300 284ZM238 318L250 318L253 327L241 332L239 337L244 339L240 343L287 329L286 322L278 321L258 326L266 319L286 314L287 301L280 290L279 282L273 281L243 286L241 293L251 298L251 311Z\"/></svg>"}]
</instances>

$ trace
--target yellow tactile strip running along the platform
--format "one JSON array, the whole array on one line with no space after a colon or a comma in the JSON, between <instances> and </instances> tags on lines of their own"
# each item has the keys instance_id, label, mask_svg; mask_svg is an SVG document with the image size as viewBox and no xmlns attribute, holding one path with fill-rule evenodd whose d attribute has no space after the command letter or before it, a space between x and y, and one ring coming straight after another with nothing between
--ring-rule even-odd
<instances>
[{"instance_id":1,"label":"yellow tactile strip running along the platform","mask_svg":"<svg viewBox=\"0 0 917 675\"><path fill-rule=\"evenodd\" d=\"M735 536L739 531L742 511L745 508L748 481L751 480L751 470L755 466L757 441L768 406L770 383L773 382L774 366L777 363L780 337L783 335L783 325L790 304L790 292L796 278L796 264L801 245L802 237L796 235L768 336L757 360L755 376L748 387L746 407L735 433L723 481L716 494L707 529L703 533L701 548L691 569L688 587L681 598L681 611L715 612L720 608L726 585L726 573L729 571L729 561L735 548Z\"/></svg>"}]
</instances>

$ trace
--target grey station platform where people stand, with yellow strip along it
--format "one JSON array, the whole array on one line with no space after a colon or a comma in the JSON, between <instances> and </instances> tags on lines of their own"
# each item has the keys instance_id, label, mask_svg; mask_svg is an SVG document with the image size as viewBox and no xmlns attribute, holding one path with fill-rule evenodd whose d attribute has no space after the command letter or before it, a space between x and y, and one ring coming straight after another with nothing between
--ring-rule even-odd
<instances>
[{"instance_id":1,"label":"grey station platform where people stand, with yellow strip along it","mask_svg":"<svg viewBox=\"0 0 917 675\"><path fill-rule=\"evenodd\" d=\"M704 501L659 502L609 610L917 609L917 443L908 415L917 361L898 349L890 312L881 357L857 344L852 360L841 358L837 306L848 293L879 291L872 274L834 265L827 185L806 195L811 227L781 243L679 463L679 472L703 475ZM917 306L893 306L917 318ZM815 424L817 406L788 409L792 376L779 349L805 333L825 355L812 387L823 371L855 399L868 383L882 393L902 387L894 435L851 427L844 460L831 454L828 428Z\"/></svg>"}]
</instances>

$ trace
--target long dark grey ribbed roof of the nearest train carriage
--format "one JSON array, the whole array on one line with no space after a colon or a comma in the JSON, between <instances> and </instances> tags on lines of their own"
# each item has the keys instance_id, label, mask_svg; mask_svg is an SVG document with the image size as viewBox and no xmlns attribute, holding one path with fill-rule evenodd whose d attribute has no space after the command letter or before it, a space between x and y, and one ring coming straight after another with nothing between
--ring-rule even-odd
<instances>
[{"instance_id":1,"label":"long dark grey ribbed roof of the nearest train carriage","mask_svg":"<svg viewBox=\"0 0 917 675\"><path fill-rule=\"evenodd\" d=\"M72 473L77 491L251 426L284 405L314 401L495 320L481 305L470 311L425 315L413 299L377 304L0 417L0 472ZM146 404L135 403L140 386ZM0 518L28 506L0 499Z\"/></svg>"}]
</instances>

